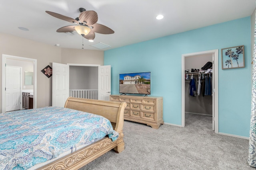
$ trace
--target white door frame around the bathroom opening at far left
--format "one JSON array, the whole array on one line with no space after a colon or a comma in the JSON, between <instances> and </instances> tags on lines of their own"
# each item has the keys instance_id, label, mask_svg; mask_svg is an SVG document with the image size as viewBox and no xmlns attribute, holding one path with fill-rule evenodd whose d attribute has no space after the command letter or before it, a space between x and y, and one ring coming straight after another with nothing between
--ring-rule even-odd
<instances>
[{"instance_id":1,"label":"white door frame around the bathroom opening at far left","mask_svg":"<svg viewBox=\"0 0 256 170\"><path fill-rule=\"evenodd\" d=\"M17 57L12 55L5 55L2 54L2 113L6 111L6 93L5 93L5 84L6 84L6 59L16 59L16 60L24 60L24 61L30 61L33 62L33 72L34 72L34 98L33 98L33 108L37 108L37 60L36 59L30 59L25 57ZM22 89L22 84L20 84L20 89ZM21 90L22 91L22 90Z\"/></svg>"}]
</instances>

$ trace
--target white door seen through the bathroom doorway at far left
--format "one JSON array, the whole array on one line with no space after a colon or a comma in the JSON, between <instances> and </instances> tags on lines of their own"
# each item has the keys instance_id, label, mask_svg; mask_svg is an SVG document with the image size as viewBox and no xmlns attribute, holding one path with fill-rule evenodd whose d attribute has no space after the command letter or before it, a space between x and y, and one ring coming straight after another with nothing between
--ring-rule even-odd
<instances>
[{"instance_id":1,"label":"white door seen through the bathroom doorway at far left","mask_svg":"<svg viewBox=\"0 0 256 170\"><path fill-rule=\"evenodd\" d=\"M21 109L20 74L20 67L6 66L6 111Z\"/></svg>"}]
</instances>

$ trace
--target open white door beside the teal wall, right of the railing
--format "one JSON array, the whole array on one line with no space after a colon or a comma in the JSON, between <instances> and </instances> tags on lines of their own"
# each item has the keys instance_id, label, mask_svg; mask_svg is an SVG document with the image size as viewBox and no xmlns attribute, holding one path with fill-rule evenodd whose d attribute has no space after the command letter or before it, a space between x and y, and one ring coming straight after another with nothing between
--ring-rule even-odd
<instances>
[{"instance_id":1,"label":"open white door beside the teal wall, right of the railing","mask_svg":"<svg viewBox=\"0 0 256 170\"><path fill-rule=\"evenodd\" d=\"M111 66L98 66L98 100L110 100Z\"/></svg>"}]
</instances>

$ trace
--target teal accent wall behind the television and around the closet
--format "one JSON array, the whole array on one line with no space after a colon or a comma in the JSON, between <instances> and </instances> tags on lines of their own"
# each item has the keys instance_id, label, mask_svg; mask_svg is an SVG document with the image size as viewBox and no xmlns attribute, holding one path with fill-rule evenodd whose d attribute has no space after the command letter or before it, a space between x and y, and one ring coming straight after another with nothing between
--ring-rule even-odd
<instances>
[{"instance_id":1,"label":"teal accent wall behind the television and around the closet","mask_svg":"<svg viewBox=\"0 0 256 170\"><path fill-rule=\"evenodd\" d=\"M112 94L119 74L151 72L151 96L163 96L163 119L181 125L182 54L219 50L219 132L249 137L251 111L250 17L104 51L112 67ZM222 70L221 49L244 45L245 68Z\"/></svg>"}]
</instances>

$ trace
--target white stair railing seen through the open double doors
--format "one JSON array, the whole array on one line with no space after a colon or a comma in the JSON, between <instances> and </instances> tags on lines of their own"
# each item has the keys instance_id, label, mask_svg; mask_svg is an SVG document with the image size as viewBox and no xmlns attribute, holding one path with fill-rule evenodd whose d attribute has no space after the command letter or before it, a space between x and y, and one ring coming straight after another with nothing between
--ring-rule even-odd
<instances>
[{"instance_id":1,"label":"white stair railing seen through the open double doors","mask_svg":"<svg viewBox=\"0 0 256 170\"><path fill-rule=\"evenodd\" d=\"M98 90L69 90L69 96L74 98L98 100Z\"/></svg>"}]
</instances>

